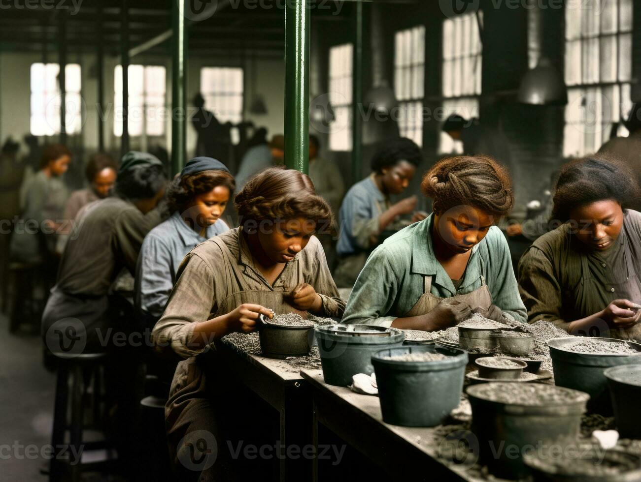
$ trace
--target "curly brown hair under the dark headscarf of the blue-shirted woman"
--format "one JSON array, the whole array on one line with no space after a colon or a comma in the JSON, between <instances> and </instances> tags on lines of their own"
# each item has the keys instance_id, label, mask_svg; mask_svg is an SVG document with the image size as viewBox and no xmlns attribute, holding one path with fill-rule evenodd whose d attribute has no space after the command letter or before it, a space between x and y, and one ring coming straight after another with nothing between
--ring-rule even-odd
<instances>
[{"instance_id":1,"label":"curly brown hair under the dark headscarf of the blue-shirted woman","mask_svg":"<svg viewBox=\"0 0 641 482\"><path fill-rule=\"evenodd\" d=\"M236 181L230 173L221 170L184 175L171 182L167 190L167 200L172 210L185 211L195 196L208 193L218 186L228 188L231 198L236 189Z\"/></svg>"}]
</instances>

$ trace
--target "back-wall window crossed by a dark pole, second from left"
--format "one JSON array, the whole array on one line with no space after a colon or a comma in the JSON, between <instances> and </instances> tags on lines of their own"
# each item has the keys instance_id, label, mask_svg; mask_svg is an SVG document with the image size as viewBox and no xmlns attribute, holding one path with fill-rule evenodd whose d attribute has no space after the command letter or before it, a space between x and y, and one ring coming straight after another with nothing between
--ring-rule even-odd
<instances>
[{"instance_id":1,"label":"back-wall window crossed by a dark pole, second from left","mask_svg":"<svg viewBox=\"0 0 641 482\"><path fill-rule=\"evenodd\" d=\"M165 133L166 73L158 65L129 65L129 108L127 125L130 136L162 136ZM113 134L122 136L122 66L113 71L115 115Z\"/></svg>"}]
</instances>

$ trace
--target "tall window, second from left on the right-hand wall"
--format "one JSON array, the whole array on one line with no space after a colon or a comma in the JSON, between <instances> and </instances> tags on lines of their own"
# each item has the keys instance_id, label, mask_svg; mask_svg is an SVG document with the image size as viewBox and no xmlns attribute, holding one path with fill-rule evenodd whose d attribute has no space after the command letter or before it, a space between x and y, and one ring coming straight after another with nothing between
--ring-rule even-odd
<instances>
[{"instance_id":1,"label":"tall window, second from left on the right-hand wall","mask_svg":"<svg viewBox=\"0 0 641 482\"><path fill-rule=\"evenodd\" d=\"M399 100L399 131L401 136L422 145L425 27L398 31L394 40L394 91Z\"/></svg>"}]
</instances>

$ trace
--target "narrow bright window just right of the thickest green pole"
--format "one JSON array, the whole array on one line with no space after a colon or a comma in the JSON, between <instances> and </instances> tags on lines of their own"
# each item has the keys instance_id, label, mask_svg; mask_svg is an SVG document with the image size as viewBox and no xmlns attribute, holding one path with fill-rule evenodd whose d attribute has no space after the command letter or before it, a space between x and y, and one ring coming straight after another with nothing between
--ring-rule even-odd
<instances>
[{"instance_id":1,"label":"narrow bright window just right of the thickest green pole","mask_svg":"<svg viewBox=\"0 0 641 482\"><path fill-rule=\"evenodd\" d=\"M329 104L334 120L329 127L329 149L352 149L352 61L353 45L329 49Z\"/></svg>"}]
</instances>

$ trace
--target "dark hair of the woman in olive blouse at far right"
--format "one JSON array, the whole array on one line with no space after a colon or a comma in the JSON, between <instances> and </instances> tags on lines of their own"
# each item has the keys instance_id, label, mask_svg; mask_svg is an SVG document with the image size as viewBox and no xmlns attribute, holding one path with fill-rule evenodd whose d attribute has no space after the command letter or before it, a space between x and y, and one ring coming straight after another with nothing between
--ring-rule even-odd
<instances>
[{"instance_id":1,"label":"dark hair of the woman in olive blouse at far right","mask_svg":"<svg viewBox=\"0 0 641 482\"><path fill-rule=\"evenodd\" d=\"M637 176L628 166L601 154L588 156L561 168L552 219L566 222L572 209L606 199L613 199L626 209L638 198Z\"/></svg>"}]
</instances>

